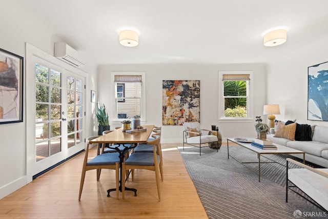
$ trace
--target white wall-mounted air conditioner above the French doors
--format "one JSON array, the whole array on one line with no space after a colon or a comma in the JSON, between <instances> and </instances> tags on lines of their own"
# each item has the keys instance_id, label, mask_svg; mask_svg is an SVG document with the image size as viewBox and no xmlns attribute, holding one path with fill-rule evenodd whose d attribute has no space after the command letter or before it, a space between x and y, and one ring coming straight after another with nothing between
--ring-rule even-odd
<instances>
[{"instance_id":1,"label":"white wall-mounted air conditioner above the French doors","mask_svg":"<svg viewBox=\"0 0 328 219\"><path fill-rule=\"evenodd\" d=\"M54 56L74 67L84 67L83 58L78 52L65 43L55 43Z\"/></svg>"}]
</instances>

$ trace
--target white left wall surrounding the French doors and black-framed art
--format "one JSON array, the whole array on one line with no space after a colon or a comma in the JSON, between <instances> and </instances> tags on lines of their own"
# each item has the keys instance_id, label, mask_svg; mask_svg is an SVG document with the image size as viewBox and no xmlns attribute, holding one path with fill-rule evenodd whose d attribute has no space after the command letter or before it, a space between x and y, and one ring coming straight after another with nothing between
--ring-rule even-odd
<instances>
[{"instance_id":1,"label":"white left wall surrounding the French doors and black-framed art","mask_svg":"<svg viewBox=\"0 0 328 219\"><path fill-rule=\"evenodd\" d=\"M56 28L45 24L42 19L37 19L34 14L29 14L19 4L7 1L4 3L0 13L1 34L0 48L23 56L25 58L25 43L29 43L48 54L53 54L54 42L64 42L63 38L56 34ZM18 16L19 15L19 16ZM74 41L74 39L71 39ZM66 42L68 43L68 42ZM25 63L26 59L24 60ZM24 70L25 70L24 66ZM88 63L83 71L91 72L87 84L87 108L91 109L90 90L96 90L96 68L95 64ZM24 122L0 125L0 198L10 194L18 188L26 185L26 127L25 109L29 102L26 97L26 79L34 77L31 72L24 71ZM33 104L33 103L32 103ZM91 110L87 110L87 124L93 124ZM88 126L89 127L89 126ZM96 128L95 128L96 130ZM91 135L93 127L87 130L87 135ZM93 133L92 133L93 135Z\"/></svg>"}]
</instances>

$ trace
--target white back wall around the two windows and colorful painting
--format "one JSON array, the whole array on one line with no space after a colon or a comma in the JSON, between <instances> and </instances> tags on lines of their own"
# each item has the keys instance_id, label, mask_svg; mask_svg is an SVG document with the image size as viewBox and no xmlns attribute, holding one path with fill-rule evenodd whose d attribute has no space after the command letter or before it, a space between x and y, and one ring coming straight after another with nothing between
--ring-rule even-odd
<instances>
[{"instance_id":1,"label":"white back wall around the two windows and colorful painting","mask_svg":"<svg viewBox=\"0 0 328 219\"><path fill-rule=\"evenodd\" d=\"M211 129L217 125L222 137L255 137L254 120L239 123L222 123L218 120L218 71L248 70L253 71L254 115L262 115L266 100L266 74L263 64L235 65L196 65L196 64L157 64L157 65L104 65L98 68L99 101L111 106L109 93L114 90L109 86L112 71L146 72L146 115L147 124L162 124L162 81L163 80L200 80L200 124L201 128ZM111 119L111 118L110 118ZM113 124L111 127L119 126ZM182 143L181 126L163 126L163 143Z\"/></svg>"}]
</instances>

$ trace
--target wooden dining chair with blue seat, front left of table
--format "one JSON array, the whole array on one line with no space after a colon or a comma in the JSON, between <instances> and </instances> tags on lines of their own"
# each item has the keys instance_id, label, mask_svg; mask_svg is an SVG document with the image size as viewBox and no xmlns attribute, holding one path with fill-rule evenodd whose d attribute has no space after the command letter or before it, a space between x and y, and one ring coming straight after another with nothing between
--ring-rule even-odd
<instances>
[{"instance_id":1,"label":"wooden dining chair with blue seat, front left of table","mask_svg":"<svg viewBox=\"0 0 328 219\"><path fill-rule=\"evenodd\" d=\"M97 181L99 181L100 170L101 169L112 169L116 171L116 198L118 198L119 192L119 157L118 153L105 153L99 154L99 145L97 146L97 155L93 157L91 160L88 160L89 155L89 141L94 140L99 136L91 136L88 138L88 145L86 149L86 154L83 162L81 181L80 181L80 189L78 194L78 201L81 200L81 194L83 190L84 180L86 176L86 171L88 170L97 170Z\"/></svg>"}]
</instances>

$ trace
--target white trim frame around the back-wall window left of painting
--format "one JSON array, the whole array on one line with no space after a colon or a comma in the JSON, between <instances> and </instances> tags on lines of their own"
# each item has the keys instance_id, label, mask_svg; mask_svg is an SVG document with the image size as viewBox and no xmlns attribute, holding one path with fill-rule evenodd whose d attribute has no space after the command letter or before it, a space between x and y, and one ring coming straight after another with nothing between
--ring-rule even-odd
<instances>
[{"instance_id":1,"label":"white trim frame around the back-wall window left of painting","mask_svg":"<svg viewBox=\"0 0 328 219\"><path fill-rule=\"evenodd\" d=\"M117 118L116 97L115 97L115 75L141 75L141 98L140 98L140 121L146 122L146 73L145 72L111 72L111 98L110 98L110 120L112 124L120 124L124 118Z\"/></svg>"}]
</instances>

